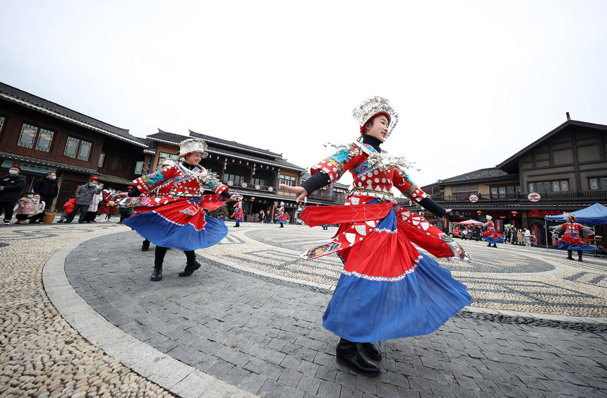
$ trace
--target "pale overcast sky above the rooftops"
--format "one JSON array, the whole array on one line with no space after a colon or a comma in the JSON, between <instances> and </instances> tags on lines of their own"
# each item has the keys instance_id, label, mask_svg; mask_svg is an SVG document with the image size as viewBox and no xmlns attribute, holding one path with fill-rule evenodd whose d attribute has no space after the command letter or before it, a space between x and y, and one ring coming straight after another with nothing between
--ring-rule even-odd
<instances>
[{"instance_id":1,"label":"pale overcast sky above the rooftops","mask_svg":"<svg viewBox=\"0 0 607 398\"><path fill-rule=\"evenodd\" d=\"M426 185L566 111L607 124L607 1L1 4L0 81L139 137L191 129L310 167L380 95L400 119L384 149Z\"/></svg>"}]
</instances>

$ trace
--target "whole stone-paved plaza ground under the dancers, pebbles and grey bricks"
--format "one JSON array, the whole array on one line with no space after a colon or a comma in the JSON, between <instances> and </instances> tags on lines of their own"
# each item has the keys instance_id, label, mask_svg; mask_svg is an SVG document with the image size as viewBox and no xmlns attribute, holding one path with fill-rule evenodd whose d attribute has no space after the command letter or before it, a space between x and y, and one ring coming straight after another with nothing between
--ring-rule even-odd
<instances>
[{"instance_id":1,"label":"whole stone-paved plaza ground under the dancers, pebbles and grey bricks","mask_svg":"<svg viewBox=\"0 0 607 398\"><path fill-rule=\"evenodd\" d=\"M233 223L203 267L110 224L3 226L0 396L600 397L607 260L464 241L447 262L471 306L426 336L381 343L379 378L335 361L322 315L341 264L297 255L335 229Z\"/></svg>"}]
</instances>

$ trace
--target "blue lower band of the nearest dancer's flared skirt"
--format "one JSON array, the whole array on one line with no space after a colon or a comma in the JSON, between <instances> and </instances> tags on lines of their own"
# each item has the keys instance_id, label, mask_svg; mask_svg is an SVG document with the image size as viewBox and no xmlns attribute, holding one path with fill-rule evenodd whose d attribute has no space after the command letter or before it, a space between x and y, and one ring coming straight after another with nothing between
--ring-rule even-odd
<instances>
[{"instance_id":1,"label":"blue lower band of the nearest dancer's flared skirt","mask_svg":"<svg viewBox=\"0 0 607 398\"><path fill-rule=\"evenodd\" d=\"M343 272L323 327L351 342L380 342L429 334L469 305L466 286L421 255L414 272L395 282Z\"/></svg>"}]
</instances>

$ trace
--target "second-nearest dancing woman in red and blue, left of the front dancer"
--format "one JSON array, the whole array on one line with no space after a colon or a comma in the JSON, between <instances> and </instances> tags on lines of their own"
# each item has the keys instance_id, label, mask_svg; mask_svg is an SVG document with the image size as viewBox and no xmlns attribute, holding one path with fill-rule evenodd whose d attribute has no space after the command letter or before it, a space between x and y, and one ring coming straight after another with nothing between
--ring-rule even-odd
<instances>
[{"instance_id":1,"label":"second-nearest dancing woman in red and blue, left of the front dancer","mask_svg":"<svg viewBox=\"0 0 607 398\"><path fill-rule=\"evenodd\" d=\"M135 207L135 214L124 224L156 245L154 271L150 280L162 279L162 263L167 248L186 253L187 263L180 277L188 277L200 268L194 251L219 243L227 235L227 227L220 219L205 215L240 195L231 195L204 167L198 166L207 144L199 138L188 138L179 144L179 155L184 162L172 164L147 176L133 180L128 198L122 207ZM214 195L203 195L210 188ZM127 195L126 193L120 194Z\"/></svg>"}]
</instances>

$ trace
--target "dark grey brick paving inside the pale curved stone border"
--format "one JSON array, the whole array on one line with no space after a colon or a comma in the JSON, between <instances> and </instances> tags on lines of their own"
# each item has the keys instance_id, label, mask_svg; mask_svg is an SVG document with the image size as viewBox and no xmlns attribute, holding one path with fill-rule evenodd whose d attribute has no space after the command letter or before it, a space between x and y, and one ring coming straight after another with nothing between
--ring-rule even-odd
<instances>
[{"instance_id":1,"label":"dark grey brick paving inside the pale curved stone border","mask_svg":"<svg viewBox=\"0 0 607 398\"><path fill-rule=\"evenodd\" d=\"M556 388L564 395L594 397L607 392L607 352L601 348L607 336L600 327L552 327L549 320L527 325L526 318L464 310L426 336L382 342L382 374L369 379L336 363L337 337L322 327L330 287L312 289L204 257L200 270L180 278L185 256L175 250L167 253L162 281L150 282L153 251L141 252L141 238L133 232L115 237L107 247L104 238L82 243L66 258L66 274L78 294L146 344L262 397L551 397ZM235 245L239 239L244 243ZM248 238L234 232L214 250L223 247L225 256L243 245ZM271 252L270 260L284 254L280 247L253 246L242 252L253 260L265 251ZM294 262L283 259L271 268L293 273L299 271Z\"/></svg>"}]
</instances>

